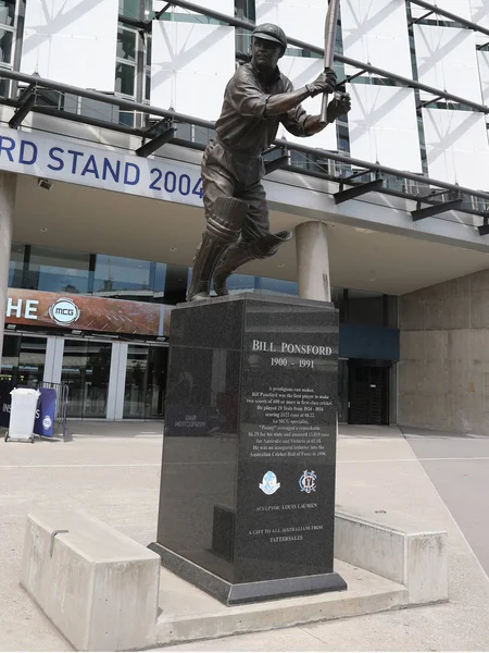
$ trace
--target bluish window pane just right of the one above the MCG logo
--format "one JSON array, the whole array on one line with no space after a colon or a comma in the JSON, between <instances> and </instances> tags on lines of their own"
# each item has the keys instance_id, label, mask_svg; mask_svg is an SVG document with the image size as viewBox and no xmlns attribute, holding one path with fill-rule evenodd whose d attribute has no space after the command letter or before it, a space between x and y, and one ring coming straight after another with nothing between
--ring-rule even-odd
<instances>
[{"instance_id":1,"label":"bluish window pane just right of the one above the MCG logo","mask_svg":"<svg viewBox=\"0 0 489 653\"><path fill-rule=\"evenodd\" d=\"M97 255L93 292L105 297L152 295L149 261Z\"/></svg>"}]
</instances>

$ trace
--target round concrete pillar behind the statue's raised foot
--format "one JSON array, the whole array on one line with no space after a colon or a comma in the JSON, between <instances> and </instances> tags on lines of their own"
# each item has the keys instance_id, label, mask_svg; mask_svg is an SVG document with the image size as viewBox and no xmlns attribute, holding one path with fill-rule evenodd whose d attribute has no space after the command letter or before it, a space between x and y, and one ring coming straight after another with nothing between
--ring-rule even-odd
<instances>
[{"instance_id":1,"label":"round concrete pillar behind the statue's raised foot","mask_svg":"<svg viewBox=\"0 0 489 653\"><path fill-rule=\"evenodd\" d=\"M304 222L296 229L299 297L331 300L327 227L324 222Z\"/></svg>"}]
</instances>

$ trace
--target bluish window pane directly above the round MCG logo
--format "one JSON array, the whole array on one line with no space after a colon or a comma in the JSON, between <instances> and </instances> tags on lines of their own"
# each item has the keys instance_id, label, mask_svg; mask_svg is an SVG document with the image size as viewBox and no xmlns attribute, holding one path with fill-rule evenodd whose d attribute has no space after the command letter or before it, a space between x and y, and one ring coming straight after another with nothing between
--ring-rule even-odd
<instances>
[{"instance_id":1,"label":"bluish window pane directly above the round MCG logo","mask_svg":"<svg viewBox=\"0 0 489 653\"><path fill-rule=\"evenodd\" d=\"M89 254L33 245L26 286L53 293L87 293L89 268Z\"/></svg>"}]
</instances>

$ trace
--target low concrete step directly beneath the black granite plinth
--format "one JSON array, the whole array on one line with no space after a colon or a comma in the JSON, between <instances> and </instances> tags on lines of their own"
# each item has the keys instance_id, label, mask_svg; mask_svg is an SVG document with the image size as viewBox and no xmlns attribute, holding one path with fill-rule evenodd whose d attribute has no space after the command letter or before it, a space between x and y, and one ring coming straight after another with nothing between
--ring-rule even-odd
<instances>
[{"instance_id":1,"label":"low concrete step directly beneath the black granite plinth","mask_svg":"<svg viewBox=\"0 0 489 653\"><path fill-rule=\"evenodd\" d=\"M397 582L340 560L335 562L335 571L347 581L346 592L226 607L162 568L156 645L274 630L409 605L406 589Z\"/></svg>"}]
</instances>

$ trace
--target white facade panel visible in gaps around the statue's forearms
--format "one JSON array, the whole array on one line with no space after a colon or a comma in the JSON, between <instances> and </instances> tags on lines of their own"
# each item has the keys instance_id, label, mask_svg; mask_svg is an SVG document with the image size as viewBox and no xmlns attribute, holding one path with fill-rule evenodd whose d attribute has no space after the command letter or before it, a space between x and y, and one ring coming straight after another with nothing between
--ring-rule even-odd
<instances>
[{"instance_id":1,"label":"white facade panel visible in gaps around the statue's forearms","mask_svg":"<svg viewBox=\"0 0 489 653\"><path fill-rule=\"evenodd\" d=\"M305 84L309 84L315 79L323 69L324 63L321 59L308 59L306 57L284 57L280 60L280 71L292 82L294 88L301 88ZM321 104L322 96L309 98L302 102L302 107L311 115L317 115L321 113ZM293 136L280 125L278 138L286 138L291 143L299 143L301 145L306 145L308 147L317 147L334 151L338 150L336 125L328 125L319 134L314 134L313 136L308 136L305 138Z\"/></svg>"}]
</instances>

